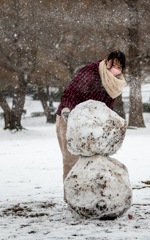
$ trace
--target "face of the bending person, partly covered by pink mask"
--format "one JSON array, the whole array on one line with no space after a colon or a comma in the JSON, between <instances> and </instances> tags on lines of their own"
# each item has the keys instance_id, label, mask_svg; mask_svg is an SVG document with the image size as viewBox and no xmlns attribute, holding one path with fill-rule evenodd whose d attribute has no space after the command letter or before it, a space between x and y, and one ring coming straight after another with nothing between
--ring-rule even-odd
<instances>
[{"instance_id":1,"label":"face of the bending person, partly covered by pink mask","mask_svg":"<svg viewBox=\"0 0 150 240\"><path fill-rule=\"evenodd\" d=\"M122 66L117 58L115 58L113 61L112 60L107 61L106 67L114 76L117 76L122 73Z\"/></svg>"}]
</instances>

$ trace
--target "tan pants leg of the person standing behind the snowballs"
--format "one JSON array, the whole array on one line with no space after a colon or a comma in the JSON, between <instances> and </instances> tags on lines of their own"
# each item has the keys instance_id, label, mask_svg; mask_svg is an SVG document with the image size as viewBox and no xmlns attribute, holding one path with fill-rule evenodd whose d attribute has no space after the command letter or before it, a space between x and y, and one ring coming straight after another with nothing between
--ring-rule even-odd
<instances>
[{"instance_id":1,"label":"tan pants leg of the person standing behind the snowballs","mask_svg":"<svg viewBox=\"0 0 150 240\"><path fill-rule=\"evenodd\" d=\"M66 141L67 124L64 122L62 116L56 117L56 133L59 142L59 146L63 157L63 180L67 177L68 173L72 169L73 165L78 161L79 156L71 154L67 149Z\"/></svg>"}]
</instances>

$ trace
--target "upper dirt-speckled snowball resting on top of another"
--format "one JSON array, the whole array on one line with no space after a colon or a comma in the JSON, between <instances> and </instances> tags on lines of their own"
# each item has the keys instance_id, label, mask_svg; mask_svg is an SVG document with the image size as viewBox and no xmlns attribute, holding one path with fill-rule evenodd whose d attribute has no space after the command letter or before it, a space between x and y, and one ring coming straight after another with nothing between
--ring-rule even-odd
<instances>
[{"instance_id":1,"label":"upper dirt-speckled snowball resting on top of another","mask_svg":"<svg viewBox=\"0 0 150 240\"><path fill-rule=\"evenodd\" d=\"M88 100L70 113L67 126L67 147L75 155L111 155L121 146L126 121L105 103Z\"/></svg>"}]
</instances>

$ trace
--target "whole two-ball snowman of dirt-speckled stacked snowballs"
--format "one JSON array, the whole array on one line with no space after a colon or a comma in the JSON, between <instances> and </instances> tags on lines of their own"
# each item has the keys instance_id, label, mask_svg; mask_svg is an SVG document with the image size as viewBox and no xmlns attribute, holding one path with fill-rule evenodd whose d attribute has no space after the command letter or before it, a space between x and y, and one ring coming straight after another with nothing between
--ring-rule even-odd
<instances>
[{"instance_id":1,"label":"whole two-ball snowman of dirt-speckled stacked snowballs","mask_svg":"<svg viewBox=\"0 0 150 240\"><path fill-rule=\"evenodd\" d=\"M114 219L131 206L127 168L110 157L121 147L125 132L126 121L105 103L88 100L71 111L67 146L80 158L64 188L69 206L80 216Z\"/></svg>"}]
</instances>

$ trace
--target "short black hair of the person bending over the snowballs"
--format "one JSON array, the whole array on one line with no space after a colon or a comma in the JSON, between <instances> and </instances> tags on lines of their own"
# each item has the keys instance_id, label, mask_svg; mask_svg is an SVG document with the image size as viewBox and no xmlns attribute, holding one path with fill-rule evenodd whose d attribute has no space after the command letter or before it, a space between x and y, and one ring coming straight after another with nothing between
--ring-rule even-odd
<instances>
[{"instance_id":1,"label":"short black hair of the person bending over the snowballs","mask_svg":"<svg viewBox=\"0 0 150 240\"><path fill-rule=\"evenodd\" d=\"M126 57L124 53L119 50L113 51L108 55L107 60L112 60L113 62L115 58L120 62L122 70L124 70L126 66Z\"/></svg>"}]
</instances>

